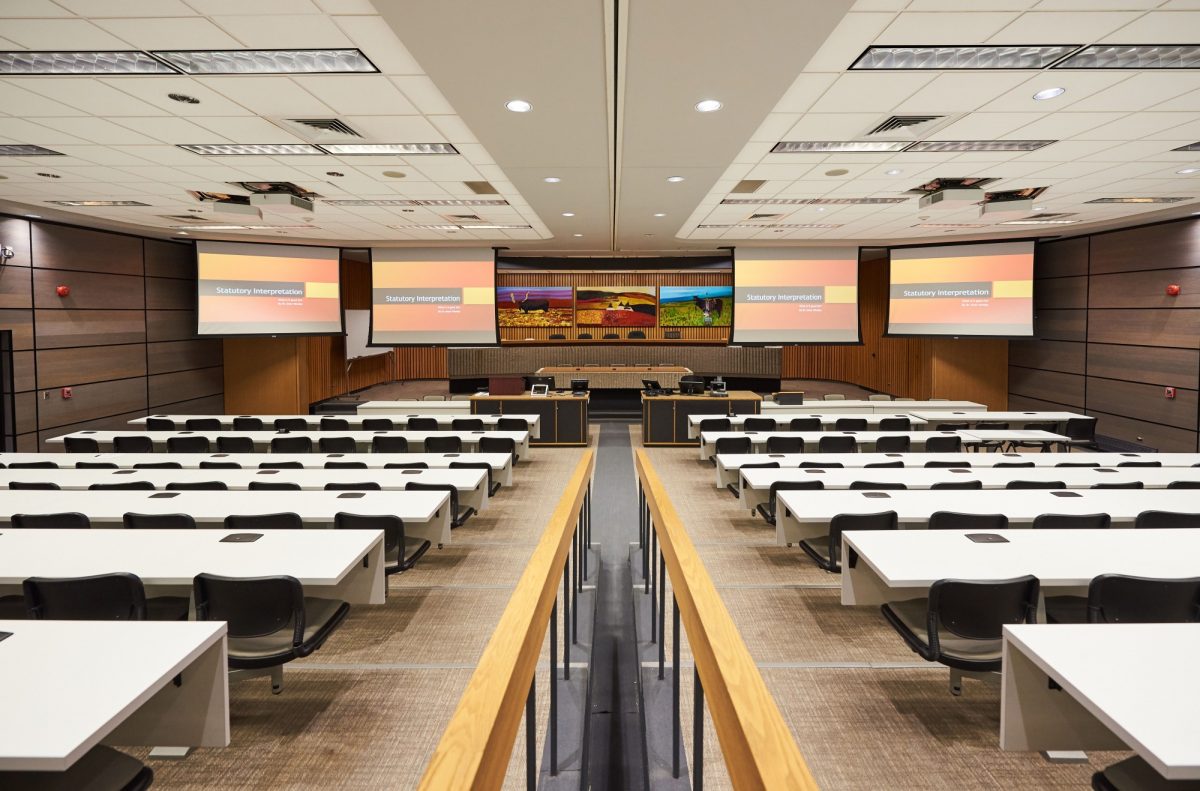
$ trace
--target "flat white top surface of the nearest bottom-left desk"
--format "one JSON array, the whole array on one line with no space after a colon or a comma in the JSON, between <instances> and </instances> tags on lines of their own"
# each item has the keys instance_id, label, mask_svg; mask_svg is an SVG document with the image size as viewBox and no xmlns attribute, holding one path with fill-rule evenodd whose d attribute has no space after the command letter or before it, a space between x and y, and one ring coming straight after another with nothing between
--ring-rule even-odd
<instances>
[{"instance_id":1,"label":"flat white top surface of the nearest bottom-left desk","mask_svg":"<svg viewBox=\"0 0 1200 791\"><path fill-rule=\"evenodd\" d=\"M5 537L6 538L6 537ZM196 658L223 622L0 621L0 771L64 771Z\"/></svg>"}]
</instances>

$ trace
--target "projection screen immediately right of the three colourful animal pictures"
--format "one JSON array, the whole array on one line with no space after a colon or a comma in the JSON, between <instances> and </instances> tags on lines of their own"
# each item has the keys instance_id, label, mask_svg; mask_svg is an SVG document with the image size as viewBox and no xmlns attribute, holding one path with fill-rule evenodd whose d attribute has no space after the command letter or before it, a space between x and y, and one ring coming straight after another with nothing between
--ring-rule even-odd
<instances>
[{"instance_id":1,"label":"projection screen immediately right of the three colourful animal pictures","mask_svg":"<svg viewBox=\"0 0 1200 791\"><path fill-rule=\"evenodd\" d=\"M858 247L738 250L733 343L858 343Z\"/></svg>"}]
</instances>

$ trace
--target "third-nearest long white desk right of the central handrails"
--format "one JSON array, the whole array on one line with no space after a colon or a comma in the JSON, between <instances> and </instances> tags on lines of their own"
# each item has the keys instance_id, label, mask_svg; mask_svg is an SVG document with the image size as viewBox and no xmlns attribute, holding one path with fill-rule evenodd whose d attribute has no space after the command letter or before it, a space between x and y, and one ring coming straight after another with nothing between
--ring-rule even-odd
<instances>
[{"instance_id":1,"label":"third-nearest long white desk right of the central handrails","mask_svg":"<svg viewBox=\"0 0 1200 791\"><path fill-rule=\"evenodd\" d=\"M1132 527L1138 514L1150 510L1195 513L1200 508L1195 490L1186 489L784 491L779 492L775 507L775 543L785 546L828 535L829 521L838 514L895 511L902 534L904 528L924 528L934 511L1004 514L1009 527L1028 527L1042 514L1108 514L1112 517L1112 527L1118 528ZM1147 535L1180 531L1129 533ZM1194 557L1192 563L1193 573L1200 570Z\"/></svg>"}]
</instances>

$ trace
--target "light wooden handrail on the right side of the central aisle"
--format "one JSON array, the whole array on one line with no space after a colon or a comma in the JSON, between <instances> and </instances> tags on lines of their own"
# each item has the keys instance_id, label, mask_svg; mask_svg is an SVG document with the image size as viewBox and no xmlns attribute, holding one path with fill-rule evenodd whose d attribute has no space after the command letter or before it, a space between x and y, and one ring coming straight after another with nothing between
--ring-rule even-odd
<instances>
[{"instance_id":1,"label":"light wooden handrail on the right side of the central aisle","mask_svg":"<svg viewBox=\"0 0 1200 791\"><path fill-rule=\"evenodd\" d=\"M636 461L659 549L679 605L679 618L688 634L733 787L816 791L817 784L804 756L767 691L649 456L638 450Z\"/></svg>"}]
</instances>

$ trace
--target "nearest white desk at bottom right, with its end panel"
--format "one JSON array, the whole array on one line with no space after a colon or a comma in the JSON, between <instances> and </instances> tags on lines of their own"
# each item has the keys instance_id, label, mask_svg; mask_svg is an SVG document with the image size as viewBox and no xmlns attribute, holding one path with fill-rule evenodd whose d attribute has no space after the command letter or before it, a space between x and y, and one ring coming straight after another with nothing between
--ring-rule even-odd
<instances>
[{"instance_id":1,"label":"nearest white desk at bottom right, with its end panel","mask_svg":"<svg viewBox=\"0 0 1200 791\"><path fill-rule=\"evenodd\" d=\"M1121 789L1200 780L1200 624L1019 624L1003 651L1001 749L1134 750L1105 771Z\"/></svg>"}]
</instances>

